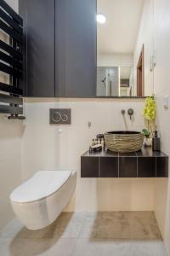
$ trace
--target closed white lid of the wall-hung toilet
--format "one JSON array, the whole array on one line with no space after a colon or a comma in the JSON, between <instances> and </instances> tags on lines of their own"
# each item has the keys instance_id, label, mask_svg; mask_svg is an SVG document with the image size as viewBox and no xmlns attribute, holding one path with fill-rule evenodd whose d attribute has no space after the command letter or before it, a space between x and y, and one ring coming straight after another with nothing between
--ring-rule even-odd
<instances>
[{"instance_id":1,"label":"closed white lid of the wall-hung toilet","mask_svg":"<svg viewBox=\"0 0 170 256\"><path fill-rule=\"evenodd\" d=\"M19 203L42 200L60 189L70 176L71 171L39 171L14 189L10 200Z\"/></svg>"}]
</instances>

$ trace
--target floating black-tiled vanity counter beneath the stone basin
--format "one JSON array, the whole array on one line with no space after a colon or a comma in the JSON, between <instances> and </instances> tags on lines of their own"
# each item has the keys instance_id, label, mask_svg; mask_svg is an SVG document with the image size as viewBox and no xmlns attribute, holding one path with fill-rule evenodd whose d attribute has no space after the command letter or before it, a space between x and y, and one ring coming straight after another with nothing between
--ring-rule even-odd
<instances>
[{"instance_id":1,"label":"floating black-tiled vanity counter beneath the stone basin","mask_svg":"<svg viewBox=\"0 0 170 256\"><path fill-rule=\"evenodd\" d=\"M168 177L168 156L144 147L133 153L85 152L81 177Z\"/></svg>"}]
</instances>

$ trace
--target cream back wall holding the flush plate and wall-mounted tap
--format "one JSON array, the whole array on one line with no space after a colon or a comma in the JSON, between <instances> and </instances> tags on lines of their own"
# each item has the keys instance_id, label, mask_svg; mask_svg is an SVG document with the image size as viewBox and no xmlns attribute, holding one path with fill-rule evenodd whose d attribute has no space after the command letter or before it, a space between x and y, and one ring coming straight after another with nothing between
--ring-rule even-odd
<instances>
[{"instance_id":1,"label":"cream back wall holding the flush plate and wall-mounted tap","mask_svg":"<svg viewBox=\"0 0 170 256\"><path fill-rule=\"evenodd\" d=\"M133 100L26 100L26 122L23 136L23 179L38 170L77 170L77 190L66 211L118 211L154 209L152 178L81 178L81 154L88 150L96 134L144 127L144 101ZM71 108L72 124L49 125L49 108ZM121 110L134 109L131 123ZM92 122L91 129L88 121ZM59 133L62 129L62 133Z\"/></svg>"}]
</instances>

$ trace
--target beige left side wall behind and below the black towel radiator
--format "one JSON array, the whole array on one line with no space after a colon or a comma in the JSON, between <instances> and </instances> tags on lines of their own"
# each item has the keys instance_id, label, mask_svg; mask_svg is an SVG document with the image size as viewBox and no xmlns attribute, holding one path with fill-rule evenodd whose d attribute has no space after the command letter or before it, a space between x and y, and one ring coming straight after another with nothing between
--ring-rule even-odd
<instances>
[{"instance_id":1,"label":"beige left side wall behind and below the black towel radiator","mask_svg":"<svg viewBox=\"0 0 170 256\"><path fill-rule=\"evenodd\" d=\"M18 1L8 1L18 10ZM0 38L4 39L1 32ZM0 81L7 82L7 78L0 73ZM9 195L21 182L21 137L22 124L20 121L8 120L0 114L0 228L14 218L10 206Z\"/></svg>"}]
</instances>

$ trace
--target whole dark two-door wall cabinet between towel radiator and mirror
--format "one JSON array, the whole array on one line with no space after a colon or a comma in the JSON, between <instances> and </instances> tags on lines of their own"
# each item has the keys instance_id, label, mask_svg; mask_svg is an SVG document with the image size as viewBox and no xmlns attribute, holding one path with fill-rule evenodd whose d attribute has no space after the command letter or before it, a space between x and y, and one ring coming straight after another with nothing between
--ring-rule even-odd
<instances>
[{"instance_id":1,"label":"whole dark two-door wall cabinet between towel radiator and mirror","mask_svg":"<svg viewBox=\"0 0 170 256\"><path fill-rule=\"evenodd\" d=\"M96 0L20 0L25 96L95 97Z\"/></svg>"}]
</instances>

